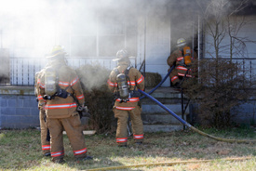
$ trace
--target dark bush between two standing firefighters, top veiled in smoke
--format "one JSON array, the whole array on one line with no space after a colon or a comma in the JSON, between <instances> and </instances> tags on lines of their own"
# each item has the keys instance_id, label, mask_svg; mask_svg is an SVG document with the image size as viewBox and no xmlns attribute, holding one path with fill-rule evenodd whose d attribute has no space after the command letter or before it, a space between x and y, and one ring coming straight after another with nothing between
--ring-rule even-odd
<instances>
[{"instance_id":1,"label":"dark bush between two standing firefighters, top veiled in smoke","mask_svg":"<svg viewBox=\"0 0 256 171\"><path fill-rule=\"evenodd\" d=\"M111 71L100 65L84 65L78 68L76 72L81 81L90 113L86 129L94 129L98 133L114 131L113 94L107 87L107 80Z\"/></svg>"}]
</instances>

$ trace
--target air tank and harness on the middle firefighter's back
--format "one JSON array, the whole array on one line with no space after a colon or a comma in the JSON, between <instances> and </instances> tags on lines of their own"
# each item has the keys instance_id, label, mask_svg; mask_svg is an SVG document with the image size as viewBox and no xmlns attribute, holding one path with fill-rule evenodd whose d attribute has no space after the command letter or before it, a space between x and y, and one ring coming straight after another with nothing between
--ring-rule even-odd
<instances>
[{"instance_id":1,"label":"air tank and harness on the middle firefighter's back","mask_svg":"<svg viewBox=\"0 0 256 171\"><path fill-rule=\"evenodd\" d=\"M128 102L130 98L139 98L141 94L138 90L130 90L131 84L128 77L128 72L132 66L120 73L117 68L114 69L116 73L117 90L115 91L115 99L121 99L120 103ZM128 85L129 82L129 85ZM136 84L136 82L135 82ZM135 85L136 86L136 85Z\"/></svg>"}]
</instances>

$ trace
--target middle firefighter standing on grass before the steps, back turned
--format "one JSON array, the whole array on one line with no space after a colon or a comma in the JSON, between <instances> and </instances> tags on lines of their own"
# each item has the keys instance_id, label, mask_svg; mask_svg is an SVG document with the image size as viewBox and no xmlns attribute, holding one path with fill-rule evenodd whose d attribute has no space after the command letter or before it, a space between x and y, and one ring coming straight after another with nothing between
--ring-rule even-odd
<instances>
[{"instance_id":1,"label":"middle firefighter standing on grass before the steps, back turned","mask_svg":"<svg viewBox=\"0 0 256 171\"><path fill-rule=\"evenodd\" d=\"M128 114L130 115L133 139L136 144L143 141L141 107L138 105L140 93L144 89L144 77L130 66L128 52L125 49L116 53L117 68L109 75L108 87L115 94L113 112L117 118L116 143L118 147L127 147Z\"/></svg>"}]
</instances>

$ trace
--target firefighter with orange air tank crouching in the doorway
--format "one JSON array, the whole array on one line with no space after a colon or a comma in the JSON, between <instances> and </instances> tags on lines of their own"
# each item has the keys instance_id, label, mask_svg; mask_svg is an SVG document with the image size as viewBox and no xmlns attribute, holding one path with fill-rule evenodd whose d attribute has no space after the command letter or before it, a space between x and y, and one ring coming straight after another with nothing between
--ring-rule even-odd
<instances>
[{"instance_id":1,"label":"firefighter with orange air tank crouching in the doorway","mask_svg":"<svg viewBox=\"0 0 256 171\"><path fill-rule=\"evenodd\" d=\"M181 80L184 76L193 77L191 65L196 54L189 46L186 46L185 39L180 38L177 41L177 49L174 50L167 59L168 65L175 68L170 72L169 78L171 85L176 88L181 87Z\"/></svg>"}]
</instances>

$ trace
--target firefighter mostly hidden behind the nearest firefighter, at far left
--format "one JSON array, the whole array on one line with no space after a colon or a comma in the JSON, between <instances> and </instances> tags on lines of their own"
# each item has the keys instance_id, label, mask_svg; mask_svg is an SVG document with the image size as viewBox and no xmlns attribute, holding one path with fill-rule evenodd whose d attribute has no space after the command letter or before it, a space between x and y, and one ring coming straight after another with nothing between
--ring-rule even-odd
<instances>
[{"instance_id":1,"label":"firefighter mostly hidden behind the nearest firefighter, at far left","mask_svg":"<svg viewBox=\"0 0 256 171\"><path fill-rule=\"evenodd\" d=\"M41 95L38 95L38 88L40 86L39 85L40 76L41 76L41 73L43 72L43 70L41 70L40 72L35 73L34 94L35 94L36 100L38 102L42 152L43 152L44 156L50 156L50 137L49 137L49 131L48 131L48 128L47 128L46 112L45 112L46 100L43 99Z\"/></svg>"}]
</instances>

